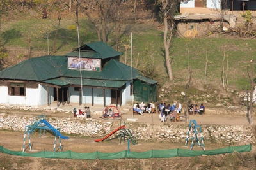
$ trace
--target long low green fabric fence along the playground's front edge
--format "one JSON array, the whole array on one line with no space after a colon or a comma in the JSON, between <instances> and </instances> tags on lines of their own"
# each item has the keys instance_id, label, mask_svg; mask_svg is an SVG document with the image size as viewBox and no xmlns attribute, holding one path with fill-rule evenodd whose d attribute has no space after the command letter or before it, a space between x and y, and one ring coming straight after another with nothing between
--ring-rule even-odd
<instances>
[{"instance_id":1,"label":"long low green fabric fence along the playground's front edge","mask_svg":"<svg viewBox=\"0 0 256 170\"><path fill-rule=\"evenodd\" d=\"M42 157L42 158L59 158L59 159L148 159L148 158L170 158L170 157L195 157L200 155L218 155L222 153L236 152L250 152L252 144L244 146L229 146L227 148L220 148L216 150L185 150L185 149L170 149L170 150L148 150L147 152L131 152L124 150L122 152L103 153L77 153L70 150L66 152L37 152L26 153L12 151L0 146L0 152L17 155L22 157Z\"/></svg>"}]
</instances>

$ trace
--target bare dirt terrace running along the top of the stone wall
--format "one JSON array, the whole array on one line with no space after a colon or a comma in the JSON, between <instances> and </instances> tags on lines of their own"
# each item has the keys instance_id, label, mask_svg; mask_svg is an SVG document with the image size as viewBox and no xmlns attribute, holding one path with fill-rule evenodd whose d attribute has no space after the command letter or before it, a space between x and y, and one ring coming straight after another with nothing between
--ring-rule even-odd
<instances>
[{"instance_id":1,"label":"bare dirt terrace running along the top of the stone wall","mask_svg":"<svg viewBox=\"0 0 256 170\"><path fill-rule=\"evenodd\" d=\"M93 107L92 107L92 112ZM97 113L100 113L100 108L95 108L97 110ZM103 110L103 108L102 108ZM122 111L122 119L127 121L127 118L132 118L131 111ZM8 115L13 116L28 116L28 117L36 117L36 115L41 115L42 112L38 111L24 111L24 110L2 110L1 113L7 113ZM73 114L68 111L62 111L62 112L56 112L56 113L46 113L47 117L67 117L72 118ZM104 120L100 118L102 115L92 115L93 119L101 120L102 122L113 122L113 124L119 124L119 120L113 120L109 118L108 120ZM183 115L184 116L184 115ZM141 115L133 115L134 118L138 118L136 122L141 123L148 123L148 124L156 124L161 125L163 122L159 121L159 115L157 113L154 114L148 114L145 113L144 116ZM254 120L256 120L256 117L253 117ZM168 118L169 120L169 118ZM170 124L188 124L186 122L185 118L180 118L180 122L170 122ZM216 115L216 114L205 114L205 115L189 115L189 120L196 120L198 125L249 125L248 119L246 115Z\"/></svg>"}]
</instances>

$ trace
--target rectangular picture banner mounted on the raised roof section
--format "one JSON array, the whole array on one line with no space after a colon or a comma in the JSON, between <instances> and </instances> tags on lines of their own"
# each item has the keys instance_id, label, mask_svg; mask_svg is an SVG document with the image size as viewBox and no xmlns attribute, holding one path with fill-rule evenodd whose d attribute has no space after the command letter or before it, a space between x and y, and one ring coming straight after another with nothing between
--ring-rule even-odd
<instances>
[{"instance_id":1,"label":"rectangular picture banner mounted on the raised roof section","mask_svg":"<svg viewBox=\"0 0 256 170\"><path fill-rule=\"evenodd\" d=\"M88 71L101 71L100 59L68 57L68 69L82 69Z\"/></svg>"}]
</instances>

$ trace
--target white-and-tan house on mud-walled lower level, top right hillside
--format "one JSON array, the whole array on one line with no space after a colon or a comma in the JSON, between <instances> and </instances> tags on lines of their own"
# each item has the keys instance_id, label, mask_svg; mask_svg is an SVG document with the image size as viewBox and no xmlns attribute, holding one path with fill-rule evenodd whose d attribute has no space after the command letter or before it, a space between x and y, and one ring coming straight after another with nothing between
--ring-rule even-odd
<instances>
[{"instance_id":1,"label":"white-and-tan house on mud-walled lower level, top right hillside","mask_svg":"<svg viewBox=\"0 0 256 170\"><path fill-rule=\"evenodd\" d=\"M228 6L221 6L221 1L218 0L181 1L181 14L173 18L177 35L195 38L207 36L214 31L227 31L229 28L234 28L237 17L232 13L224 12L228 11L227 8Z\"/></svg>"}]
</instances>

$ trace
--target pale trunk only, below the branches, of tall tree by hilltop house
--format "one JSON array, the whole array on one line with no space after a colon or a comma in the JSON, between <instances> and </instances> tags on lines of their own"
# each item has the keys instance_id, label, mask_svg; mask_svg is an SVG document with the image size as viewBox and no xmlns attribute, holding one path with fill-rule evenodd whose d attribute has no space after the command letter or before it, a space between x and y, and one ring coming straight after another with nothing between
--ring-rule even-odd
<instances>
[{"instance_id":1,"label":"pale trunk only, below the branches, of tall tree by hilltop house","mask_svg":"<svg viewBox=\"0 0 256 170\"><path fill-rule=\"evenodd\" d=\"M170 52L169 52L169 43L167 39L167 33L168 33L168 22L167 22L167 13L164 14L164 51L165 51L165 62L167 67L168 76L170 78L170 81L173 80L172 75L172 66L170 62Z\"/></svg>"}]
</instances>

